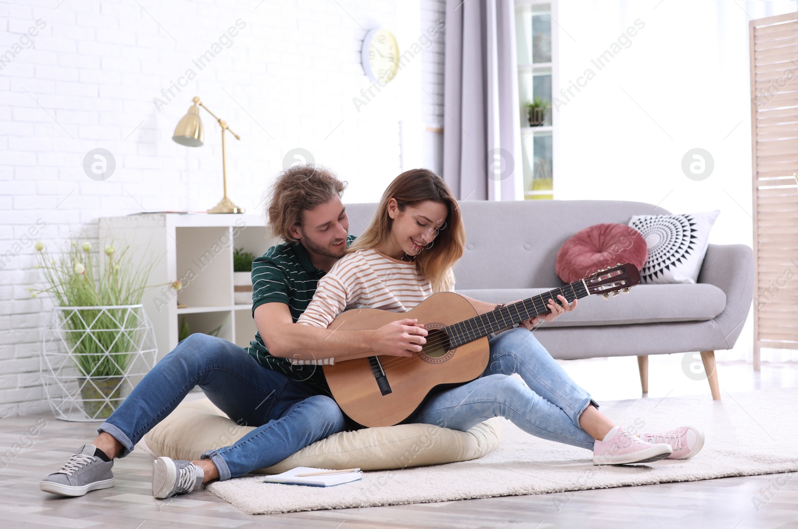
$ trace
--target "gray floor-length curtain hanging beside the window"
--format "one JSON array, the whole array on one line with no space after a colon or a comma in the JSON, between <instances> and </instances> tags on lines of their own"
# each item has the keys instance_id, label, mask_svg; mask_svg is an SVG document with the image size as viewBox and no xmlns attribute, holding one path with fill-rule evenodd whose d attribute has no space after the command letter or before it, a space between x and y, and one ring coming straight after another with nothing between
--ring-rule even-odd
<instances>
[{"instance_id":1,"label":"gray floor-length curtain hanging beside the window","mask_svg":"<svg viewBox=\"0 0 798 529\"><path fill-rule=\"evenodd\" d=\"M460 200L523 200L512 0L446 0L444 180Z\"/></svg>"}]
</instances>

